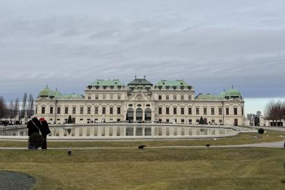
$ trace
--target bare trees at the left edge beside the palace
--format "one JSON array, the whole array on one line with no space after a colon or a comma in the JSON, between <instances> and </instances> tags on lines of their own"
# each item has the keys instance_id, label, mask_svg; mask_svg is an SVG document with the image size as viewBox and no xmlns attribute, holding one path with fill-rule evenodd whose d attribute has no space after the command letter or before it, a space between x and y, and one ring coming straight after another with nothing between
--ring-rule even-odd
<instances>
[{"instance_id":1,"label":"bare trees at the left edge beside the palace","mask_svg":"<svg viewBox=\"0 0 285 190\"><path fill-rule=\"evenodd\" d=\"M12 123L13 119L19 121L24 118L25 115L27 118L31 118L31 116L33 116L35 111L32 94L28 97L28 95L24 93L21 109L19 108L19 103L19 98L16 98L16 100L10 100L7 104L4 97L0 96L0 123L3 123L2 119L9 119L10 123ZM16 118L17 116L18 118Z\"/></svg>"}]
</instances>

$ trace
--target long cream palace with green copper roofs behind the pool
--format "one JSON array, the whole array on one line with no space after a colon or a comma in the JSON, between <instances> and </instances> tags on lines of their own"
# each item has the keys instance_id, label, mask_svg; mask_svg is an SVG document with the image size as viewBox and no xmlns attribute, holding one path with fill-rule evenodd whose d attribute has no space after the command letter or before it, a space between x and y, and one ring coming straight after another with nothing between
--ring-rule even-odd
<instances>
[{"instance_id":1,"label":"long cream palace with green copper roofs behind the pool","mask_svg":"<svg viewBox=\"0 0 285 190\"><path fill-rule=\"evenodd\" d=\"M133 79L124 85L118 79L101 80L86 86L84 95L62 94L44 88L38 94L35 112L49 123L72 122L170 122L210 125L244 125L244 101L231 88L220 95L195 95L184 80Z\"/></svg>"}]
</instances>

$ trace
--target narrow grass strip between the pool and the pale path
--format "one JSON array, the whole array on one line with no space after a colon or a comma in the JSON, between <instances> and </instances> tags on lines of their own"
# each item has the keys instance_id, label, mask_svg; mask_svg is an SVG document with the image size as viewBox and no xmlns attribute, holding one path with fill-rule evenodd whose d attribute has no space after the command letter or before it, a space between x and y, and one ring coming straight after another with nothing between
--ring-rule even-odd
<instances>
[{"instance_id":1,"label":"narrow grass strip between the pool and the pale path","mask_svg":"<svg viewBox=\"0 0 285 190\"><path fill-rule=\"evenodd\" d=\"M267 136L268 135L268 136ZM280 137L282 135L282 137ZM272 132L268 131L266 134L259 135L256 138L255 133L239 134L238 136L217 138L216 141L213 138L208 139L188 139L188 140L157 140L157 141L49 141L49 148L80 148L80 147L136 147L144 144L147 147L153 146L173 146L173 145L205 145L210 143L211 145L240 145L247 143L263 143L263 142L275 142L282 141L285 138L285 132ZM26 141L0 141L0 147L27 147Z\"/></svg>"}]
</instances>

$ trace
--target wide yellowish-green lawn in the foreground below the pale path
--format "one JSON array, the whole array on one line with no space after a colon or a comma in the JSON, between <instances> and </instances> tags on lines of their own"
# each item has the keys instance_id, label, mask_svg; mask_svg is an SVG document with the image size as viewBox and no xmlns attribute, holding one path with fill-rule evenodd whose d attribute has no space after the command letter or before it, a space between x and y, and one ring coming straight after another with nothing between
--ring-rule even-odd
<instances>
[{"instance_id":1,"label":"wide yellowish-green lawn in the foreground below the pale path","mask_svg":"<svg viewBox=\"0 0 285 190\"><path fill-rule=\"evenodd\" d=\"M0 150L0 168L29 173L34 189L285 189L285 150Z\"/></svg>"}]
</instances>

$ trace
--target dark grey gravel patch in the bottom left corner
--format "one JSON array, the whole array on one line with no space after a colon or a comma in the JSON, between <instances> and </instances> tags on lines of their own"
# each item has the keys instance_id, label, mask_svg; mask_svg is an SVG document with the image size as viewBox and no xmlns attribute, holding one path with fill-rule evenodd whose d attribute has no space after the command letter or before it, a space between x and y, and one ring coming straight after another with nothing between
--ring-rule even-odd
<instances>
[{"instance_id":1,"label":"dark grey gravel patch in the bottom left corner","mask_svg":"<svg viewBox=\"0 0 285 190\"><path fill-rule=\"evenodd\" d=\"M0 190L29 190L35 184L30 175L0 171Z\"/></svg>"}]
</instances>

